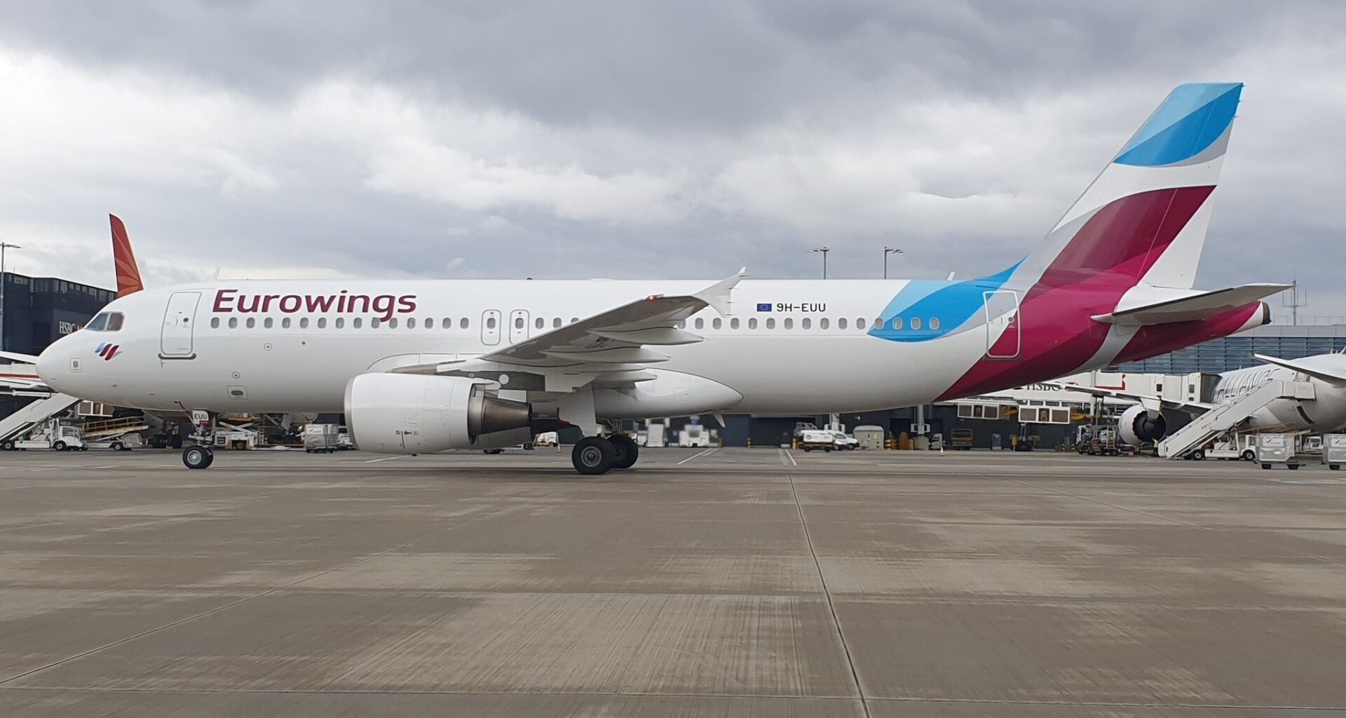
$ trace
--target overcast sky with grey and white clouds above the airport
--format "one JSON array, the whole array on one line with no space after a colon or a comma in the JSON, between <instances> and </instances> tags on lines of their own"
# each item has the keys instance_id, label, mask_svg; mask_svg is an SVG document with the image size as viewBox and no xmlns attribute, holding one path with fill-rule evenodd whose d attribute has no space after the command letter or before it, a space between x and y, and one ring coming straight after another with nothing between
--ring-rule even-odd
<instances>
[{"instance_id":1,"label":"overcast sky with grey and white clouds above the airport","mask_svg":"<svg viewBox=\"0 0 1346 718\"><path fill-rule=\"evenodd\" d=\"M0 1L11 269L112 286L113 211L155 284L976 273L1242 81L1199 284L1346 315L1346 3L300 5Z\"/></svg>"}]
</instances>

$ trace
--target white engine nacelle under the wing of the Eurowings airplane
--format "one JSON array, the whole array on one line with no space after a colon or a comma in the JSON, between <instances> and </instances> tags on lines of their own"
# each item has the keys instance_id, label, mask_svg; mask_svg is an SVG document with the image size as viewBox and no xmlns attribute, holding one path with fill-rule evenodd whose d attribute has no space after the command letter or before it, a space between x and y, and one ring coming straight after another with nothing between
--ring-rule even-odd
<instances>
[{"instance_id":1,"label":"white engine nacelle under the wing of the Eurowings airplane","mask_svg":"<svg viewBox=\"0 0 1346 718\"><path fill-rule=\"evenodd\" d=\"M369 373L346 384L350 440L376 454L475 449L481 436L528 430L532 407L487 392L478 379ZM507 440L522 443L524 439Z\"/></svg>"}]
</instances>

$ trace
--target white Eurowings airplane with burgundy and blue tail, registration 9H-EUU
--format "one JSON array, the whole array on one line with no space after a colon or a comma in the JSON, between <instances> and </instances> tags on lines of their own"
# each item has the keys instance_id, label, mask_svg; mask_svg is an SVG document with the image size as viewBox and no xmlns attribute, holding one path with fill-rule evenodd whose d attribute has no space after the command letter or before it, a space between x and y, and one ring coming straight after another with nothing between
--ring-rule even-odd
<instances>
[{"instance_id":1,"label":"white Eurowings airplane with burgundy and blue tail, registration 9H-EUU","mask_svg":"<svg viewBox=\"0 0 1346 718\"><path fill-rule=\"evenodd\" d=\"M886 410L1260 326L1285 284L1194 290L1242 84L1174 89L1023 260L964 280L215 280L120 296L36 361L50 387L187 411L345 412L365 451L517 446L600 422Z\"/></svg>"}]
</instances>

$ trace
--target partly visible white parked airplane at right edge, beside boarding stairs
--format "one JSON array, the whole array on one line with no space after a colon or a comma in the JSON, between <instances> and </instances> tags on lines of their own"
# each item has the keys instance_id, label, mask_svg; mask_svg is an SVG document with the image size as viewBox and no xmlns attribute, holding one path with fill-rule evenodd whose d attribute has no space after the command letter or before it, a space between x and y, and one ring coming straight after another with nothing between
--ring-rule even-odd
<instances>
[{"instance_id":1,"label":"partly visible white parked airplane at right edge, beside boarding stairs","mask_svg":"<svg viewBox=\"0 0 1346 718\"><path fill-rule=\"evenodd\" d=\"M1117 419L1119 434L1132 446L1140 446L1144 442L1159 442L1170 434L1168 420L1164 419L1163 410L1176 410L1199 416L1219 405L1233 403L1238 397L1261 388L1268 381L1307 381L1314 385L1312 400L1291 397L1272 399L1267 405L1254 411L1246 422L1240 424L1240 432L1335 431L1346 426L1346 354L1314 354L1298 360L1284 360L1265 354L1253 354L1253 357L1267 364L1221 373L1219 380L1211 391L1213 401L1209 403L1172 400L1155 395L1128 392L1125 389L1081 387L1075 384L1058 385L1093 396L1137 401L1136 405L1121 412L1121 416ZM1245 451L1244 458L1250 461L1250 451ZM1203 458L1205 453L1198 454L1193 451L1190 455L1193 458Z\"/></svg>"}]
</instances>

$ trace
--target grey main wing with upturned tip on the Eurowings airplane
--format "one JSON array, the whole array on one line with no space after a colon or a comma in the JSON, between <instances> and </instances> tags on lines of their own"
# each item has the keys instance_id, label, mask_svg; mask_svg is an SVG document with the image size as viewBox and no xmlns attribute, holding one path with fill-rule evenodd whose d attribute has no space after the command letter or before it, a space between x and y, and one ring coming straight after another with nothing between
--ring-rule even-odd
<instances>
[{"instance_id":1,"label":"grey main wing with upturned tip on the Eurowings airplane","mask_svg":"<svg viewBox=\"0 0 1346 718\"><path fill-rule=\"evenodd\" d=\"M645 369L666 361L658 346L693 344L700 335L678 327L692 314L715 307L730 314L730 291L747 268L689 295L650 295L580 319L481 357L433 365L402 366L398 373L532 376L533 381L502 383L505 388L568 392L590 383L634 385L654 379ZM541 385L538 385L541 380Z\"/></svg>"}]
</instances>

